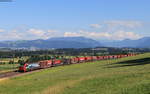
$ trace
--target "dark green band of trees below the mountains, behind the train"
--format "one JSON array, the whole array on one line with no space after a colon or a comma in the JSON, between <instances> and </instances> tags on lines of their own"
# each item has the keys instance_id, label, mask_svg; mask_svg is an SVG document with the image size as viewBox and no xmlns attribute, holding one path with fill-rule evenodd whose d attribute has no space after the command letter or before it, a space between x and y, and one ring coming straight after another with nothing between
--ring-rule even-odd
<instances>
[{"instance_id":1,"label":"dark green band of trees below the mountains, behind the train","mask_svg":"<svg viewBox=\"0 0 150 94\"><path fill-rule=\"evenodd\" d=\"M28 50L0 50L0 58L21 58L24 56L44 55L45 59L51 59L51 56L97 56L108 54L128 54L128 53L144 53L150 52L148 48L112 48L112 47L97 47L97 48L65 48L65 49L45 49L37 51ZM42 59L43 60L43 59Z\"/></svg>"}]
</instances>

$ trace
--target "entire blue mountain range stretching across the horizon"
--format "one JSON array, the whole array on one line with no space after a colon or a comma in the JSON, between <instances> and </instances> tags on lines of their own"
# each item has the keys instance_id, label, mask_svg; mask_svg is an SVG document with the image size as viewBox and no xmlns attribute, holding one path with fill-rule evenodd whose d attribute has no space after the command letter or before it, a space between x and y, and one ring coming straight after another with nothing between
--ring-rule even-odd
<instances>
[{"instance_id":1,"label":"entire blue mountain range stretching across the horizon","mask_svg":"<svg viewBox=\"0 0 150 94\"><path fill-rule=\"evenodd\" d=\"M93 48L93 47L132 47L132 48L150 48L150 37L144 37L138 40L122 40L115 42L97 41L85 37L58 37L47 40L20 40L20 41L2 41L1 48Z\"/></svg>"}]
</instances>

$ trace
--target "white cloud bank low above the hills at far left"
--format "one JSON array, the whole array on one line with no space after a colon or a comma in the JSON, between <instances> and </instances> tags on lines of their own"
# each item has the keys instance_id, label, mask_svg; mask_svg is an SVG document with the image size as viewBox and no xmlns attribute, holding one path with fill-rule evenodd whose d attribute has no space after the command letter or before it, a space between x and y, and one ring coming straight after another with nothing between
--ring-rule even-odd
<instances>
[{"instance_id":1,"label":"white cloud bank low above the hills at far left","mask_svg":"<svg viewBox=\"0 0 150 94\"><path fill-rule=\"evenodd\" d=\"M5 32L4 32L5 31ZM56 30L42 30L42 29L27 29L21 31L20 29L14 29L11 31L0 29L0 40L35 40L35 39L48 39L50 37L59 36L60 32Z\"/></svg>"}]
</instances>

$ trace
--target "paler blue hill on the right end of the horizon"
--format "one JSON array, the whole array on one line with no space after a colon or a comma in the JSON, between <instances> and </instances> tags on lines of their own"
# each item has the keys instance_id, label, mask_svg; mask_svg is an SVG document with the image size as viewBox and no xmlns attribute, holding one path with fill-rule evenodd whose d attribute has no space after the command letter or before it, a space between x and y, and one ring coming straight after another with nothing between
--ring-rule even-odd
<instances>
[{"instance_id":1,"label":"paler blue hill on the right end of the horizon","mask_svg":"<svg viewBox=\"0 0 150 94\"><path fill-rule=\"evenodd\" d=\"M103 42L102 45L107 47L150 48L150 37L144 37L138 40L126 39L123 41Z\"/></svg>"}]
</instances>

